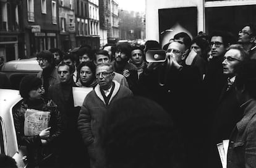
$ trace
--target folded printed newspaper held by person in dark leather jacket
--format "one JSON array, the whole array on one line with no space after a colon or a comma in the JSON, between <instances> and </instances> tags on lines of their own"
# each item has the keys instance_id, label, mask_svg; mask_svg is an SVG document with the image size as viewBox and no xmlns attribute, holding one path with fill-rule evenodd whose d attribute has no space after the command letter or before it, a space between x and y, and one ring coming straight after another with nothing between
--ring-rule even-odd
<instances>
[{"instance_id":1,"label":"folded printed newspaper held by person in dark leather jacket","mask_svg":"<svg viewBox=\"0 0 256 168\"><path fill-rule=\"evenodd\" d=\"M38 111L27 109L25 112L24 135L38 135L42 130L48 128L51 114L49 111Z\"/></svg>"}]
</instances>

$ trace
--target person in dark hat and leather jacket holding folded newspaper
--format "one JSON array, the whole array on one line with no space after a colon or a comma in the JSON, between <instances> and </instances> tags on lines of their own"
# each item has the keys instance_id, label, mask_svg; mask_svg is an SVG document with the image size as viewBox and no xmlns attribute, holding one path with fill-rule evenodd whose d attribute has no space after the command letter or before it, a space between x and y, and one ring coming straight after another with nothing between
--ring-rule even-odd
<instances>
[{"instance_id":1,"label":"person in dark hat and leather jacket holding folded newspaper","mask_svg":"<svg viewBox=\"0 0 256 168\"><path fill-rule=\"evenodd\" d=\"M56 104L41 96L41 80L27 75L20 82L23 101L14 110L18 144L27 146L28 167L56 167L61 117Z\"/></svg>"}]
</instances>

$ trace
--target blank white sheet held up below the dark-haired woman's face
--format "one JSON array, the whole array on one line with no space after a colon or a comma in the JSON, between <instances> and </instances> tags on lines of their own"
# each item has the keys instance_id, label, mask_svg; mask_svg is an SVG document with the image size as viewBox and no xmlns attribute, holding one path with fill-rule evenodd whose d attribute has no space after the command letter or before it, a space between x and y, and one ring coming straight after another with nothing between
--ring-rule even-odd
<instances>
[{"instance_id":1,"label":"blank white sheet held up below the dark-haired woman's face","mask_svg":"<svg viewBox=\"0 0 256 168\"><path fill-rule=\"evenodd\" d=\"M73 87L73 98L74 98L74 106L82 106L83 100L87 96L87 94L92 91L93 88L78 88Z\"/></svg>"}]
</instances>

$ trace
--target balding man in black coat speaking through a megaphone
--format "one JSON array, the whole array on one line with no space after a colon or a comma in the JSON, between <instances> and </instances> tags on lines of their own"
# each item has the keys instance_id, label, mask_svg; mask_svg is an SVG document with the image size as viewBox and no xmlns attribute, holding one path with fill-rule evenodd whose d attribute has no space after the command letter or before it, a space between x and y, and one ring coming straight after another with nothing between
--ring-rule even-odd
<instances>
[{"instance_id":1,"label":"balding man in black coat speaking through a megaphone","mask_svg":"<svg viewBox=\"0 0 256 168\"><path fill-rule=\"evenodd\" d=\"M188 164L197 167L202 147L202 79L197 67L185 64L182 41L170 43L166 52L146 53L147 68L140 75L145 95L160 104L174 120L187 151Z\"/></svg>"}]
</instances>

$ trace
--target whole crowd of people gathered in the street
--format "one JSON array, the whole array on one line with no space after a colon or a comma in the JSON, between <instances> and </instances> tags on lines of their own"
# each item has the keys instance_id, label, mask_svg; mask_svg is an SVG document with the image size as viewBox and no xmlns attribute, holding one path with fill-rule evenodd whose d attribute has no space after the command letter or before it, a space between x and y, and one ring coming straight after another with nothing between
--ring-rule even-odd
<instances>
[{"instance_id":1,"label":"whole crowd of people gathered in the street","mask_svg":"<svg viewBox=\"0 0 256 168\"><path fill-rule=\"evenodd\" d=\"M22 79L14 111L28 167L256 167L255 37L245 25L238 39L181 32L163 48L148 40L39 52L42 71ZM147 61L161 49L164 62ZM93 88L81 107L74 87ZM25 136L27 109L49 111L48 128Z\"/></svg>"}]
</instances>

